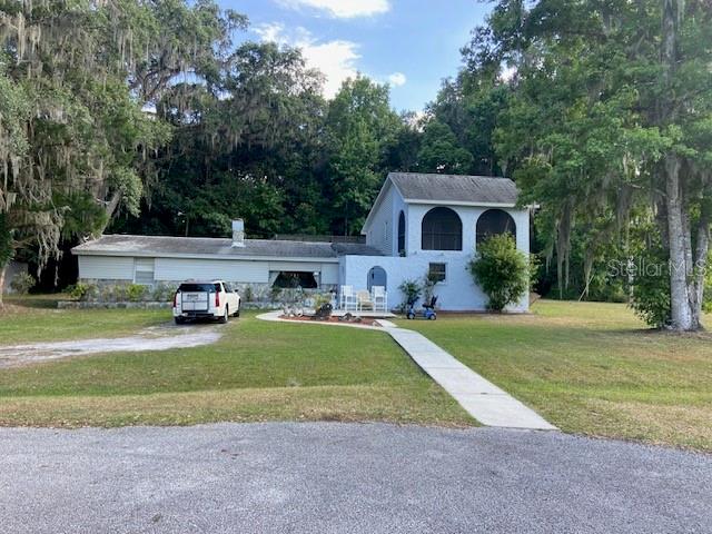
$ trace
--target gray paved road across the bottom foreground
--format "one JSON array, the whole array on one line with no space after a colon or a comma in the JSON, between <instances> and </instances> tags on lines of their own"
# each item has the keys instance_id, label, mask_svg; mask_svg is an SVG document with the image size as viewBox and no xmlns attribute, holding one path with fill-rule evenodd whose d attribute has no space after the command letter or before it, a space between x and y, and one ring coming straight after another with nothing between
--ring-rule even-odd
<instances>
[{"instance_id":1,"label":"gray paved road across the bottom foreground","mask_svg":"<svg viewBox=\"0 0 712 534\"><path fill-rule=\"evenodd\" d=\"M0 429L0 532L712 530L712 456L345 424Z\"/></svg>"}]
</instances>

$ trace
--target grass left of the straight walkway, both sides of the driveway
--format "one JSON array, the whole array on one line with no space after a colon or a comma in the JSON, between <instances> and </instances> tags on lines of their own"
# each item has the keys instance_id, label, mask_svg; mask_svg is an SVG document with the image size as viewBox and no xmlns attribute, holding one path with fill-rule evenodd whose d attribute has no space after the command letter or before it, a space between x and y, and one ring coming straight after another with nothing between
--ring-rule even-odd
<instances>
[{"instance_id":1,"label":"grass left of the straight walkway, both sides of the driveway","mask_svg":"<svg viewBox=\"0 0 712 534\"><path fill-rule=\"evenodd\" d=\"M167 320L166 310L22 309L0 320L0 344L38 334L44 339L118 335ZM250 313L222 332L218 343L205 347L95 355L0 370L0 425L476 424L383 333L265 323Z\"/></svg>"}]
</instances>

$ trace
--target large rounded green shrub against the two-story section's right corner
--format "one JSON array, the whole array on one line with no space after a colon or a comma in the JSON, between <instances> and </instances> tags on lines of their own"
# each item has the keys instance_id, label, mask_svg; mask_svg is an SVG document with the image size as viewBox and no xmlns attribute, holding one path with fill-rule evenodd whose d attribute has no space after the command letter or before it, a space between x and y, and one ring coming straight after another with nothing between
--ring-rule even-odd
<instances>
[{"instance_id":1,"label":"large rounded green shrub against the two-story section's right corner","mask_svg":"<svg viewBox=\"0 0 712 534\"><path fill-rule=\"evenodd\" d=\"M477 248L477 255L469 261L469 271L490 298L487 307L502 312L528 290L530 261L508 234L492 236Z\"/></svg>"}]
</instances>

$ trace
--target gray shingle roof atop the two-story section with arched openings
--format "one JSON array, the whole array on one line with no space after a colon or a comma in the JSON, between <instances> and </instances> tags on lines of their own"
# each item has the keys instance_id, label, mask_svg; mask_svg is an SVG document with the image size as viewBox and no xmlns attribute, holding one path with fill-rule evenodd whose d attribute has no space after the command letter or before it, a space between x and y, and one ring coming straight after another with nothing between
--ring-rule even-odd
<instances>
[{"instance_id":1,"label":"gray shingle roof atop the two-story section with arched openings","mask_svg":"<svg viewBox=\"0 0 712 534\"><path fill-rule=\"evenodd\" d=\"M390 172L388 178L406 200L516 204L517 189L508 178L421 172Z\"/></svg>"}]
</instances>

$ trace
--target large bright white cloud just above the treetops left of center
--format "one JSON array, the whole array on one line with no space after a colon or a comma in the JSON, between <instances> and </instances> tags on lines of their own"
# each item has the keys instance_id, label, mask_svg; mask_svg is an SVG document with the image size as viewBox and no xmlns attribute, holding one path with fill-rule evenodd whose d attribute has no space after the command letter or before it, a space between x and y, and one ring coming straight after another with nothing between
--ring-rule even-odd
<instances>
[{"instance_id":1,"label":"large bright white cloud just above the treetops left of center","mask_svg":"<svg viewBox=\"0 0 712 534\"><path fill-rule=\"evenodd\" d=\"M255 32L263 41L300 48L307 66L324 73L326 98L333 98L346 78L356 77L356 61L360 56L357 51L358 44L355 42L340 39L318 41L301 27L288 33L279 22L259 24L255 28Z\"/></svg>"}]
</instances>

